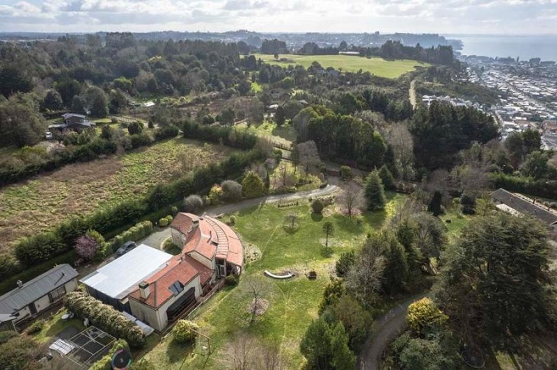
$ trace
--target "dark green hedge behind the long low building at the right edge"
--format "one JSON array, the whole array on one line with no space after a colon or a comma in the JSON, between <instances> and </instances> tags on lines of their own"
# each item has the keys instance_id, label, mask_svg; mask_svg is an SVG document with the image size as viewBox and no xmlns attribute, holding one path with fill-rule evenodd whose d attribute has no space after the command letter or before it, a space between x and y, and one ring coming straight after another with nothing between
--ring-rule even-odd
<instances>
[{"instance_id":1,"label":"dark green hedge behind the long low building at the right edge","mask_svg":"<svg viewBox=\"0 0 557 370\"><path fill-rule=\"evenodd\" d=\"M555 200L557 197L557 181L534 180L528 177L505 175L504 173L492 174L495 188L504 188L508 191L526 193L537 197Z\"/></svg>"}]
</instances>

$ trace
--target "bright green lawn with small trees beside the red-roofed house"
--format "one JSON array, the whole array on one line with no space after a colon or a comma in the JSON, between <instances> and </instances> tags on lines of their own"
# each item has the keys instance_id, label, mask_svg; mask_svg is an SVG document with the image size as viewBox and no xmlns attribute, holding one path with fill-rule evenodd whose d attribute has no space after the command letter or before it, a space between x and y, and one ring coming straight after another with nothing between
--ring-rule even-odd
<instances>
[{"instance_id":1,"label":"bright green lawn with small trees beside the red-roofed house","mask_svg":"<svg viewBox=\"0 0 557 370\"><path fill-rule=\"evenodd\" d=\"M299 341L311 320L317 317L317 305L338 255L359 248L368 232L379 230L404 199L405 195L391 193L386 211L353 218L336 213L333 206L325 208L323 216L311 214L309 202L305 200L297 207L278 208L276 204L267 204L235 213L235 230L241 235L246 251L258 250L260 258L246 265L238 287L219 291L192 315L201 331L210 336L212 355L190 356L191 350L184 350L188 357L184 360L182 354L177 359L176 346L167 338L145 356L146 360L164 369L228 368L228 344L238 335L249 333L260 343L278 347L285 369L299 369L302 362ZM285 216L292 213L299 216L299 226L293 231L284 222ZM335 226L329 239L332 249L329 257L323 253L322 225L327 220ZM245 282L253 275L262 277L265 270L274 273L288 270L297 276L286 281L262 278L268 284L264 298L269 301L269 307L256 323L249 325L246 307L251 298L245 293ZM304 276L311 270L317 271L317 280Z\"/></svg>"}]
</instances>

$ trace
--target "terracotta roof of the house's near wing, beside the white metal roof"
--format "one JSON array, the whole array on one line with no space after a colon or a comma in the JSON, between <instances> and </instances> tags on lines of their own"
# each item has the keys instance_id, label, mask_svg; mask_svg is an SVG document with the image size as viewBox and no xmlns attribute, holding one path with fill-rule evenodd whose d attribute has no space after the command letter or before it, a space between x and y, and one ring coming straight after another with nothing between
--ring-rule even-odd
<instances>
[{"instance_id":1,"label":"terracotta roof of the house's near wing, beside the white metal roof","mask_svg":"<svg viewBox=\"0 0 557 370\"><path fill-rule=\"evenodd\" d=\"M188 255L177 255L168 261L165 268L146 280L150 288L150 294L146 299L141 298L139 288L132 291L130 297L151 307L158 308L173 297L170 289L172 284L180 282L182 286L185 286L198 275L201 284L205 284L205 282L210 280L212 270Z\"/></svg>"}]
</instances>

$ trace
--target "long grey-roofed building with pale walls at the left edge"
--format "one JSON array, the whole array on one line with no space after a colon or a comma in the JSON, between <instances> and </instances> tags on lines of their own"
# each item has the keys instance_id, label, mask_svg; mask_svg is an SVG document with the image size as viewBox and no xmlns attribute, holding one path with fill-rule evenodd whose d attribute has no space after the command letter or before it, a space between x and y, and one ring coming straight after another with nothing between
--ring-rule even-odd
<instances>
[{"instance_id":1,"label":"long grey-roofed building with pale walls at the left edge","mask_svg":"<svg viewBox=\"0 0 557 370\"><path fill-rule=\"evenodd\" d=\"M18 287L0 297L0 330L25 319L31 319L65 293L77 289L77 271L69 264L58 265L29 282L17 282ZM10 319L11 316L13 319Z\"/></svg>"}]
</instances>

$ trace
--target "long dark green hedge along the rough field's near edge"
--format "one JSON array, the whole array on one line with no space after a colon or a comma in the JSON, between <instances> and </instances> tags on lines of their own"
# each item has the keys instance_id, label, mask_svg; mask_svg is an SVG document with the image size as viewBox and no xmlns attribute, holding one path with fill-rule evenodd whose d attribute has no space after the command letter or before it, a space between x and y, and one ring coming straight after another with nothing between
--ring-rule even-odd
<instances>
[{"instance_id":1,"label":"long dark green hedge along the rough field's near edge","mask_svg":"<svg viewBox=\"0 0 557 370\"><path fill-rule=\"evenodd\" d=\"M87 230L97 230L106 237L113 230L136 223L148 214L180 202L187 195L198 193L226 177L241 172L251 161L260 158L262 154L258 150L230 154L221 163L210 163L173 182L158 184L142 200L121 202L115 207L102 209L88 217L74 217L50 232L22 239L15 246L15 255L24 266L40 264L71 250L74 240ZM162 216L164 214L168 214L168 209L164 209ZM3 274L6 274L6 271L0 271L0 275Z\"/></svg>"}]
</instances>

